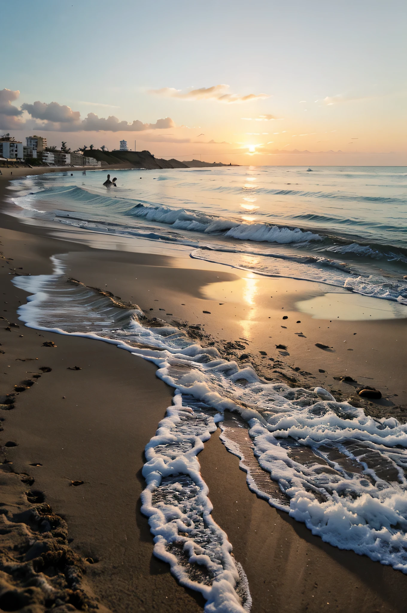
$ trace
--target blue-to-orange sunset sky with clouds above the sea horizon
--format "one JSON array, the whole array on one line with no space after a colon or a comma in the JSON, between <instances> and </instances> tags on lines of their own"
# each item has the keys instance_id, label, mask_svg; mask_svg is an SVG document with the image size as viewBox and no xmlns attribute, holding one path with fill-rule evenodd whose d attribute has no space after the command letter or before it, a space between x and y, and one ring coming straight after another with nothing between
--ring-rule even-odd
<instances>
[{"instance_id":1,"label":"blue-to-orange sunset sky with clouds above the sea horizon","mask_svg":"<svg viewBox=\"0 0 407 613\"><path fill-rule=\"evenodd\" d=\"M405 0L20 0L0 132L251 165L407 164Z\"/></svg>"}]
</instances>

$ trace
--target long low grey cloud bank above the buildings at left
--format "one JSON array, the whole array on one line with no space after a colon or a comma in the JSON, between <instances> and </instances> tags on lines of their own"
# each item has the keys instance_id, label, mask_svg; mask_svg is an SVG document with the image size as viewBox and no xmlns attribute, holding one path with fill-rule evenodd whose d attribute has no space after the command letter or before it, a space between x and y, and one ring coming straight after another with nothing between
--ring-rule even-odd
<instances>
[{"instance_id":1,"label":"long low grey cloud bank above the buildings at left","mask_svg":"<svg viewBox=\"0 0 407 613\"><path fill-rule=\"evenodd\" d=\"M21 109L13 106L11 102L18 99L19 91L2 89L0 91L0 129L35 129L53 132L142 132L146 130L162 130L175 128L170 117L159 119L156 123L142 123L134 120L132 123L119 121L114 115L107 118L99 117L95 113L81 119L79 111L73 111L65 104L58 102L40 102L33 104L24 102ZM30 115L24 119L22 116ZM34 121L32 121L34 120Z\"/></svg>"}]
</instances>

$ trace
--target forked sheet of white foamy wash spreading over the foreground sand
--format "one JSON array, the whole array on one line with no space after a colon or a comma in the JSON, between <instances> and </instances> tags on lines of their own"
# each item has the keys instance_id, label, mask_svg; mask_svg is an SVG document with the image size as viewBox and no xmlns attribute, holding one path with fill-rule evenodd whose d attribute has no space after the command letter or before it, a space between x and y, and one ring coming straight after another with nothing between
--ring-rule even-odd
<instances>
[{"instance_id":1,"label":"forked sheet of white foamy wash spreading over the foreground sand","mask_svg":"<svg viewBox=\"0 0 407 613\"><path fill-rule=\"evenodd\" d=\"M146 447L147 480L160 466L158 472L169 481L163 484L154 474L143 503L154 517L153 530L158 530L154 534L160 537L156 553L167 556L183 584L191 587L191 576L182 575L178 554L189 555L188 563L202 563L215 573L206 584L209 588L201 584L194 587L204 596L208 594L208 611L229 610L222 608L226 601L213 595L219 592L219 585L211 591L216 577L221 577L219 582L229 582L222 585L225 593L230 592L233 606L242 606L236 600L240 596L232 592L238 589L243 575L238 579L238 568L230 570L226 536L222 536L226 549L215 547L216 555L211 558L214 549L209 533L215 535L217 528L208 519L210 503L196 459L219 419L213 417L226 410L237 416L240 430L235 427L233 432L230 420L226 420L224 443L240 457L251 490L304 522L325 542L407 573L407 424L394 418L365 416L362 408L337 402L321 387L304 389L269 383L253 368L240 368L236 362L223 359L215 347L191 340L183 329L165 322L161 327L143 324L135 305L127 308L121 319L123 308L105 302L105 296L89 287L76 284L72 289L69 278L60 274L60 261L58 266L58 275L13 278L17 287L32 293L18 310L21 321L39 330L113 343L156 364L157 376L178 390L177 396L189 398L189 408L181 408L181 400L175 400L175 408L169 409L159 427L158 438ZM97 313L99 319L95 318ZM199 403L195 408L193 399ZM197 489L189 492L189 486ZM158 492L156 504L154 492ZM191 500L197 497L192 506L185 504L188 492ZM194 504L201 503L196 513ZM189 520L194 526L188 524ZM191 530L183 530L185 534L179 540L179 527L184 526ZM203 540L191 543L191 535ZM221 552L224 558L219 558ZM222 590L218 595L224 598Z\"/></svg>"}]
</instances>

